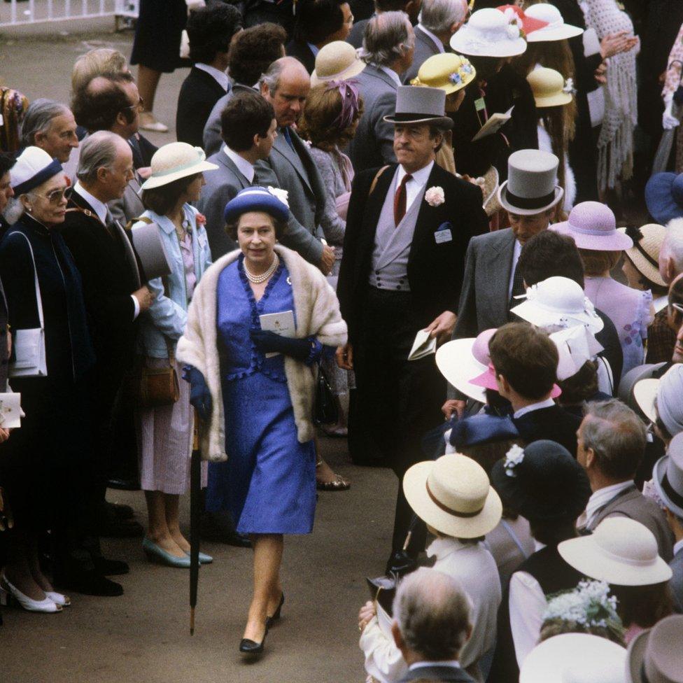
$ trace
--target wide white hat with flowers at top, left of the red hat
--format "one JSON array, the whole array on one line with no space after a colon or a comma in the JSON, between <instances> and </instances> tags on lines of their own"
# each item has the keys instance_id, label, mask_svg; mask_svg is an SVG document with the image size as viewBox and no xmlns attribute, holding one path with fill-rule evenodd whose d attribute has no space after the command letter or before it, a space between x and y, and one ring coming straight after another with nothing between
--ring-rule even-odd
<instances>
[{"instance_id":1,"label":"wide white hat with flowers at top, left of the red hat","mask_svg":"<svg viewBox=\"0 0 683 683\"><path fill-rule=\"evenodd\" d=\"M492 8L477 10L451 36L451 48L474 57L514 57L526 50L519 25Z\"/></svg>"}]
</instances>

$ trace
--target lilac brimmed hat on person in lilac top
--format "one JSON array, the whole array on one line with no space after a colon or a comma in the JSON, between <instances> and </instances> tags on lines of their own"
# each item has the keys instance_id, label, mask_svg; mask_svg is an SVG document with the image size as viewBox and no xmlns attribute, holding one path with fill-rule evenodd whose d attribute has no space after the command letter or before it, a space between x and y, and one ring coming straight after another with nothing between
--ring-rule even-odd
<instances>
[{"instance_id":1,"label":"lilac brimmed hat on person in lilac top","mask_svg":"<svg viewBox=\"0 0 683 683\"><path fill-rule=\"evenodd\" d=\"M564 223L556 223L552 230L574 238L579 249L594 251L622 251L633 246L633 240L617 231L617 219L612 209L600 202L581 202Z\"/></svg>"}]
</instances>

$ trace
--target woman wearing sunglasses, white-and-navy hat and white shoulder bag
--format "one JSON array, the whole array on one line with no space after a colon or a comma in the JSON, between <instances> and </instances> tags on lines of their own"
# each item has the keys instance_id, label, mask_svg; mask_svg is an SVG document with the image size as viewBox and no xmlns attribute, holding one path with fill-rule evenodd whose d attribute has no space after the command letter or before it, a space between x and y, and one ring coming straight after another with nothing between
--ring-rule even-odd
<instances>
[{"instance_id":1,"label":"woman wearing sunglasses, white-and-navy hat and white shoulder bag","mask_svg":"<svg viewBox=\"0 0 683 683\"><path fill-rule=\"evenodd\" d=\"M0 279L14 345L10 382L25 416L0 453L15 517L0 590L24 610L54 613L69 598L41 572L37 540L51 530L55 576L76 562L94 351L80 274L59 234L68 187L61 164L28 147L10 169L10 186L15 197L4 212L10 227L0 241Z\"/></svg>"}]
</instances>

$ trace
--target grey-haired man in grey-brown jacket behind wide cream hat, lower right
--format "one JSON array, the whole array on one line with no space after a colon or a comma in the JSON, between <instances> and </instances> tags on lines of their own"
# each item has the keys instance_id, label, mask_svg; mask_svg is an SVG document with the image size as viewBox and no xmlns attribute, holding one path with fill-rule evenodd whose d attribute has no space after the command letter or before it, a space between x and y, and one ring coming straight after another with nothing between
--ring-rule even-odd
<instances>
[{"instance_id":1,"label":"grey-haired man in grey-brown jacket behind wide cream hat, lower right","mask_svg":"<svg viewBox=\"0 0 683 683\"><path fill-rule=\"evenodd\" d=\"M579 533L591 533L607 517L630 517L646 526L657 540L659 555L673 558L673 533L666 516L651 498L635 488L647 435L638 415L617 399L590 402L577 432L577 460L593 491L577 520Z\"/></svg>"}]
</instances>

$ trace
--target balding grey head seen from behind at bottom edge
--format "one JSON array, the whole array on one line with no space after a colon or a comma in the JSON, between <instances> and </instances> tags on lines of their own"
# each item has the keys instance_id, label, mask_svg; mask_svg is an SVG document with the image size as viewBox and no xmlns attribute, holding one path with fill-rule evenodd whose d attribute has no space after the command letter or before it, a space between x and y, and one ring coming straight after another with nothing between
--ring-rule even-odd
<instances>
[{"instance_id":1,"label":"balding grey head seen from behind at bottom edge","mask_svg":"<svg viewBox=\"0 0 683 683\"><path fill-rule=\"evenodd\" d=\"M426 567L402 579L393 604L406 647L428 661L458 659L470 630L470 610L457 579Z\"/></svg>"}]
</instances>

